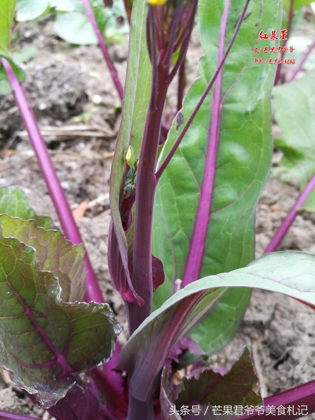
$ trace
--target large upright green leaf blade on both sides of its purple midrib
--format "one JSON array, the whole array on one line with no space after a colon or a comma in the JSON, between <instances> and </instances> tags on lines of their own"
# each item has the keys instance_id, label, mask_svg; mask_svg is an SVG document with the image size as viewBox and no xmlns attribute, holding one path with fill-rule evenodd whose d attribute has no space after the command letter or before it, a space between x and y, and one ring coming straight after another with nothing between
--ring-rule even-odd
<instances>
[{"instance_id":1,"label":"large upright green leaf blade on both sides of its purple midrib","mask_svg":"<svg viewBox=\"0 0 315 420\"><path fill-rule=\"evenodd\" d=\"M243 2L231 1L225 48L243 6ZM184 123L215 71L223 7L224 1L199 1L199 28L205 56L199 65L200 78L184 101ZM252 1L223 67L217 172L200 277L242 267L254 258L255 206L267 179L272 153L270 93L275 66L256 65L252 50L261 46L257 40L260 28L280 29L281 9L280 0ZM275 46L269 40L265 45ZM183 276L204 173L211 107L212 92L158 183L153 253L163 261L166 278L155 292L155 308L172 294L173 281ZM173 124L160 162L178 131ZM211 318L197 325L190 337L206 353L217 352L233 337L249 298L250 291L228 291L212 311Z\"/></svg>"}]
</instances>

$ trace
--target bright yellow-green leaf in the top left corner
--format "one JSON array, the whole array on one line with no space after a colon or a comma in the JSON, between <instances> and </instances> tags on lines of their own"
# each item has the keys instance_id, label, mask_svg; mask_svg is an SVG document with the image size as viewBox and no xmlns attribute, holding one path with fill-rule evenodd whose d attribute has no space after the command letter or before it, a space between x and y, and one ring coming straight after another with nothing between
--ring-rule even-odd
<instances>
[{"instance_id":1,"label":"bright yellow-green leaf in the top left corner","mask_svg":"<svg viewBox=\"0 0 315 420\"><path fill-rule=\"evenodd\" d=\"M16 0L0 1L0 56L9 58L11 25Z\"/></svg>"}]
</instances>

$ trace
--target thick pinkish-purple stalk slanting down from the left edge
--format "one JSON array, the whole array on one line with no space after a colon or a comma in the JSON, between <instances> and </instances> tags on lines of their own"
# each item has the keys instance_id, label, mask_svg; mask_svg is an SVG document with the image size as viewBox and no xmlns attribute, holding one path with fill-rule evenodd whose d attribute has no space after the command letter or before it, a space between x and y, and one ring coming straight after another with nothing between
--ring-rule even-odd
<instances>
[{"instance_id":1,"label":"thick pinkish-purple stalk slanting down from the left edge","mask_svg":"<svg viewBox=\"0 0 315 420\"><path fill-rule=\"evenodd\" d=\"M20 110L21 118L29 134L38 165L45 179L50 197L54 203L60 224L63 228L64 236L69 239L73 245L81 244L83 241L78 226L74 221L71 209L63 192L54 164L47 151L45 141L40 134L36 117L29 105L24 88L12 70L10 63L4 58L2 58L1 61L12 87L16 104ZM87 288L86 298L88 301L94 300L96 302L103 302L102 293L99 289L87 252L85 252L85 258L87 267L87 276L85 281Z\"/></svg>"}]
</instances>

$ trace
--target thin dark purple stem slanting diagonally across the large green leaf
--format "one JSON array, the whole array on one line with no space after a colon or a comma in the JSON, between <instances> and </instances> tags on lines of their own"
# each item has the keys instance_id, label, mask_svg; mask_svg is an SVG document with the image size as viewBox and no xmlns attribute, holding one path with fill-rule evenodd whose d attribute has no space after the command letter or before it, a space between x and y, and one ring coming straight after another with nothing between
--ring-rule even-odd
<instances>
[{"instance_id":1,"label":"thin dark purple stem slanting diagonally across the large green leaf","mask_svg":"<svg viewBox=\"0 0 315 420\"><path fill-rule=\"evenodd\" d=\"M237 36L237 34L238 34L238 32L239 32L239 30L241 28L241 25L242 25L242 22L244 20L244 16L245 16L245 13L246 13L246 10L248 8L248 5L249 5L250 1L251 0L246 0L246 3L245 3L245 6L244 6L244 9L243 9L243 12L242 12L242 14L241 14L241 16L240 16L240 18L239 18L239 20L237 22L234 35L232 36L232 39L231 39L231 41L230 41L230 43L229 43L229 45L228 45L228 47L227 47L227 49L226 49L226 51L224 53L224 56L223 56L220 64L218 65L218 67L217 67L214 75L212 76L212 79L210 80L210 82L209 82L208 86L206 87L204 93L202 94L201 98L199 99L199 102L197 103L195 109L192 111L192 113L191 113L189 119L187 120L184 128L182 129L181 133L179 134L179 136L175 140L173 146L171 147L171 150L168 152L168 154L165 157L164 161L161 163L160 167L158 168L158 171L156 173L156 183L158 182L158 180L161 177L164 169L166 168L166 166L168 165L168 163L170 162L170 160L174 156L174 153L176 152L178 146L180 145L181 141L183 140L185 134L187 133L187 131L188 131L188 129L189 129L189 127L190 127L193 119L195 118L197 112L201 108L201 105L203 104L204 100L208 96L208 93L210 92L210 89L212 88L213 84L215 83L215 81L216 81L216 79L218 77L218 74L220 73L221 68L223 67L223 65L225 63L226 58L227 58L227 56L228 56L228 54L229 54L229 52L230 52L230 50L231 50L231 48L232 48L232 46L233 46L233 44L235 42L236 36Z\"/></svg>"}]
</instances>

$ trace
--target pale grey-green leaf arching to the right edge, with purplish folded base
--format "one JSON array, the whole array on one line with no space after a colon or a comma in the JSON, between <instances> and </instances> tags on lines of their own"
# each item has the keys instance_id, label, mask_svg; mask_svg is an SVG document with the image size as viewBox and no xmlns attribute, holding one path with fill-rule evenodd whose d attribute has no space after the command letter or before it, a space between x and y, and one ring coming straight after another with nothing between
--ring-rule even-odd
<instances>
[{"instance_id":1,"label":"pale grey-green leaf arching to the right edge, with purplish folded base","mask_svg":"<svg viewBox=\"0 0 315 420\"><path fill-rule=\"evenodd\" d=\"M208 313L226 288L276 291L315 306L314 278L315 255L288 251L266 254L245 268L190 283L154 311L123 348L119 368L130 375L132 394L146 401L171 347Z\"/></svg>"}]
</instances>

